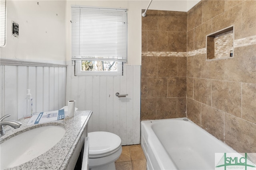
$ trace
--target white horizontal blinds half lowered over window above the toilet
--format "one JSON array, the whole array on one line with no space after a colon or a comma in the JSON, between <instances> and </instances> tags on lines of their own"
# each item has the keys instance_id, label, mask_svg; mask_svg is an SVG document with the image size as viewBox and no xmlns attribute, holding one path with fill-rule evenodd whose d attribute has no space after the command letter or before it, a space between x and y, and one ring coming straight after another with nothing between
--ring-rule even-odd
<instances>
[{"instance_id":1,"label":"white horizontal blinds half lowered over window above the toilet","mask_svg":"<svg viewBox=\"0 0 256 170\"><path fill-rule=\"evenodd\" d=\"M72 6L72 60L126 62L126 11Z\"/></svg>"}]
</instances>

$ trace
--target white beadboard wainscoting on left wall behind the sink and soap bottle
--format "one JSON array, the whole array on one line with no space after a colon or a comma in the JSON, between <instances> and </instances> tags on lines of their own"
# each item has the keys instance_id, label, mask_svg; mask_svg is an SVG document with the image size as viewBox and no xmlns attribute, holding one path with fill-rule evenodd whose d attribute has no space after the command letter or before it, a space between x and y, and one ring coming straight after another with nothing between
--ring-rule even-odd
<instances>
[{"instance_id":1,"label":"white beadboard wainscoting on left wall behind the sink and soap bottle","mask_svg":"<svg viewBox=\"0 0 256 170\"><path fill-rule=\"evenodd\" d=\"M1 59L1 117L24 116L27 89L33 98L33 112L58 110L66 104L66 65Z\"/></svg>"}]
</instances>

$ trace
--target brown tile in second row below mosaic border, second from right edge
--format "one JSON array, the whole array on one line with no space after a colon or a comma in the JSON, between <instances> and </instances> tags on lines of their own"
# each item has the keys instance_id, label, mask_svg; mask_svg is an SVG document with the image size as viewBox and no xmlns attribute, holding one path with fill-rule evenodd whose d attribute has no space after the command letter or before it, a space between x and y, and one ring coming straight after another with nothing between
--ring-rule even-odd
<instances>
[{"instance_id":1,"label":"brown tile in second row below mosaic border, second from right edge","mask_svg":"<svg viewBox=\"0 0 256 170\"><path fill-rule=\"evenodd\" d=\"M212 107L241 117L241 83L212 80Z\"/></svg>"}]
</instances>

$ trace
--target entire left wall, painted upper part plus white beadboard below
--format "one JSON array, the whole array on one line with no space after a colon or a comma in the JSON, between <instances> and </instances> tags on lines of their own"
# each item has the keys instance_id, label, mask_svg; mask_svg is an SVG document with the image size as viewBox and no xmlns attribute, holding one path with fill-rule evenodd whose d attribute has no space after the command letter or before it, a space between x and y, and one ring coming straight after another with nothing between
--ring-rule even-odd
<instances>
[{"instance_id":1,"label":"entire left wall, painted upper part plus white beadboard below","mask_svg":"<svg viewBox=\"0 0 256 170\"><path fill-rule=\"evenodd\" d=\"M6 8L7 40L0 48L1 116L23 117L27 89L34 112L60 109L66 104L66 65L61 65L66 64L66 1L7 0ZM19 37L12 35L12 21L19 24Z\"/></svg>"}]
</instances>

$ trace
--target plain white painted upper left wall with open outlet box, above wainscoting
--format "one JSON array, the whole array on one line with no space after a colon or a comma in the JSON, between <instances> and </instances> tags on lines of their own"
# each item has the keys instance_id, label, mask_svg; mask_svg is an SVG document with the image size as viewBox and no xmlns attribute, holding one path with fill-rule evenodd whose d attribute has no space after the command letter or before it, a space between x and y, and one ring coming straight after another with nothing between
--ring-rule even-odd
<instances>
[{"instance_id":1,"label":"plain white painted upper left wall with open outlet box, above wainscoting","mask_svg":"<svg viewBox=\"0 0 256 170\"><path fill-rule=\"evenodd\" d=\"M7 0L6 47L2 59L66 64L66 1ZM12 22L19 37L12 35Z\"/></svg>"}]
</instances>

